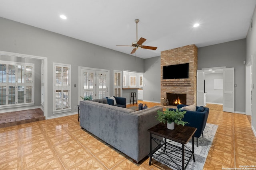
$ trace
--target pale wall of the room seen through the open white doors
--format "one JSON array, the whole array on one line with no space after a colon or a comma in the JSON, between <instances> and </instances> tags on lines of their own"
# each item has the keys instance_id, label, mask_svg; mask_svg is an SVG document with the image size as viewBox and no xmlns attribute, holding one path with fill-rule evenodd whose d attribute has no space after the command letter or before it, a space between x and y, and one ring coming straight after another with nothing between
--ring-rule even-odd
<instances>
[{"instance_id":1,"label":"pale wall of the room seen through the open white doors","mask_svg":"<svg viewBox=\"0 0 256 170\"><path fill-rule=\"evenodd\" d=\"M214 89L214 79L223 79L223 73L204 74L206 103L223 104L223 90Z\"/></svg>"}]
</instances>

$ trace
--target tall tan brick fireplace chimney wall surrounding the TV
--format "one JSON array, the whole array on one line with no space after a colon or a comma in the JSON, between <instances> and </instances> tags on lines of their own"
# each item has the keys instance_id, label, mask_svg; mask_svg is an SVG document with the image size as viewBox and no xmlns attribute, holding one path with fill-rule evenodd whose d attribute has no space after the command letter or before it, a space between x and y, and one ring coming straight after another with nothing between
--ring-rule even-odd
<instances>
[{"instance_id":1,"label":"tall tan brick fireplace chimney wall surrounding the TV","mask_svg":"<svg viewBox=\"0 0 256 170\"><path fill-rule=\"evenodd\" d=\"M163 66L189 63L189 76L163 80ZM186 104L196 104L197 47L187 45L161 52L161 98L167 94L186 94ZM169 101L170 105L170 101Z\"/></svg>"}]
</instances>

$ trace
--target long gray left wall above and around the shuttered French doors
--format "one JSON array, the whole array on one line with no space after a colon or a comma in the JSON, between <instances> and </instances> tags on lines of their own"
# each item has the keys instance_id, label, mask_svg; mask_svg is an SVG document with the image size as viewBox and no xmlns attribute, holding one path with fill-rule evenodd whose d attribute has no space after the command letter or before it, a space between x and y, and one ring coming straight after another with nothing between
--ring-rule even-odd
<instances>
[{"instance_id":1,"label":"long gray left wall above and around the shuttered French doors","mask_svg":"<svg viewBox=\"0 0 256 170\"><path fill-rule=\"evenodd\" d=\"M114 70L144 72L144 59L0 18L0 51L48 58L48 117L52 114L52 63L71 64L71 108L78 104L78 66L110 70L110 95L113 95Z\"/></svg>"}]
</instances>

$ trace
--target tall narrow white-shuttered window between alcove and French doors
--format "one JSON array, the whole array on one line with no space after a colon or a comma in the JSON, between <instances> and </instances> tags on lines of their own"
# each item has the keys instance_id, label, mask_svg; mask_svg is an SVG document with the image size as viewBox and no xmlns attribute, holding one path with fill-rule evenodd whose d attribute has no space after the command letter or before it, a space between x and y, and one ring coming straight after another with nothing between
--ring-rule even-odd
<instances>
[{"instance_id":1,"label":"tall narrow white-shuttered window between alcove and French doors","mask_svg":"<svg viewBox=\"0 0 256 170\"><path fill-rule=\"evenodd\" d=\"M60 113L63 111L71 111L71 86L70 86L70 64L53 64L55 70L53 72L53 112Z\"/></svg>"}]
</instances>

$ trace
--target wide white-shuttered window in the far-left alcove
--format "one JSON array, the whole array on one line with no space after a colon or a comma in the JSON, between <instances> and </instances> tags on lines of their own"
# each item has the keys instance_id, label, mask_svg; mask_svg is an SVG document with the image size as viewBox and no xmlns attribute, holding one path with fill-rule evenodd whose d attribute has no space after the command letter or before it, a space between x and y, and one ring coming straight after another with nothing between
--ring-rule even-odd
<instances>
[{"instance_id":1,"label":"wide white-shuttered window in the far-left alcove","mask_svg":"<svg viewBox=\"0 0 256 170\"><path fill-rule=\"evenodd\" d=\"M34 104L34 64L0 61L0 107Z\"/></svg>"}]
</instances>

